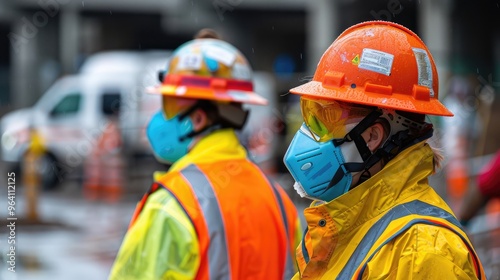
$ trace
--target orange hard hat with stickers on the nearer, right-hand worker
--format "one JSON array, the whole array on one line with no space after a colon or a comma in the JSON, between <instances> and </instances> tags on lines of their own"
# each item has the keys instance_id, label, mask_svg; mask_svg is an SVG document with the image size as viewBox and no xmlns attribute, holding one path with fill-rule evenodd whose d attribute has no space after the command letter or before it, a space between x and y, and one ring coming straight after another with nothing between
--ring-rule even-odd
<instances>
[{"instance_id":1,"label":"orange hard hat with stickers on the nearer, right-hand worker","mask_svg":"<svg viewBox=\"0 0 500 280\"><path fill-rule=\"evenodd\" d=\"M453 116L438 100L438 73L408 28L368 21L345 30L321 57L312 81L291 93L419 114Z\"/></svg>"}]
</instances>

